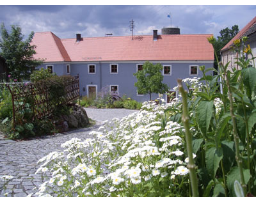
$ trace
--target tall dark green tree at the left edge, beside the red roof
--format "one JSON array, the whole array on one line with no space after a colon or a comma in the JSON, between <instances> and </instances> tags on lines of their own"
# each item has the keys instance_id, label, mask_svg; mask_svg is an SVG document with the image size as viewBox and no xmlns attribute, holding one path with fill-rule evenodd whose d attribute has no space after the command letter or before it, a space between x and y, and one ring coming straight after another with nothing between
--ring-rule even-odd
<instances>
[{"instance_id":1,"label":"tall dark green tree at the left edge, beside the red roof","mask_svg":"<svg viewBox=\"0 0 256 202\"><path fill-rule=\"evenodd\" d=\"M33 58L36 54L35 45L30 43L34 34L32 31L28 39L24 40L19 26L12 26L11 33L8 33L4 24L1 24L0 54L6 59L6 75L10 74L13 79L29 79L35 67L43 63L42 60Z\"/></svg>"}]
</instances>

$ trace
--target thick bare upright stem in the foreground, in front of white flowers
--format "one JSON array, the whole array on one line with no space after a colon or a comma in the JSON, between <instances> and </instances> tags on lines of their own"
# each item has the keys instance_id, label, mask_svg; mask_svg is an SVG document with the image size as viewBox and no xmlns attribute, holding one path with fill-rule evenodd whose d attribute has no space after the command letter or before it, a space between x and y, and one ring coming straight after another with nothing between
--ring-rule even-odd
<instances>
[{"instance_id":1,"label":"thick bare upright stem in the foreground, in front of white flowers","mask_svg":"<svg viewBox=\"0 0 256 202\"><path fill-rule=\"evenodd\" d=\"M193 160L193 147L192 147L192 136L189 130L189 116L188 116L188 103L187 103L187 93L182 86L182 80L178 79L178 88L182 95L182 123L184 124L185 134L186 134L186 146L188 150L188 169L189 176L191 180L192 194L193 197L198 197L198 185L196 178L196 165Z\"/></svg>"}]
</instances>

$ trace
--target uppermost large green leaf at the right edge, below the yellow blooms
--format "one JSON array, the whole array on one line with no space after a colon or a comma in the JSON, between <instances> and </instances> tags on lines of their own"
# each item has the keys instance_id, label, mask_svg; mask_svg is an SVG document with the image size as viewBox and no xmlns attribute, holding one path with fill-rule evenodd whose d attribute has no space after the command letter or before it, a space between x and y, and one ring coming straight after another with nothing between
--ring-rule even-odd
<instances>
[{"instance_id":1,"label":"uppermost large green leaf at the right edge, below the yellow blooms","mask_svg":"<svg viewBox=\"0 0 256 202\"><path fill-rule=\"evenodd\" d=\"M246 86L246 94L248 97L252 97L252 92L255 90L256 86L256 69L252 67L244 68L241 72L241 76L243 84Z\"/></svg>"}]
</instances>

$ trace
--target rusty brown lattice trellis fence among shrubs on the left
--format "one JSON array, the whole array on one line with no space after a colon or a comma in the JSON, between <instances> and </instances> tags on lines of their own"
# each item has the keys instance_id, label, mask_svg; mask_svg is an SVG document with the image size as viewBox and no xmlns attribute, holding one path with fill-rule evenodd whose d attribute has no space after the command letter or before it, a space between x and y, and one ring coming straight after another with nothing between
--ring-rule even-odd
<instances>
[{"instance_id":1,"label":"rusty brown lattice trellis fence among shrubs on the left","mask_svg":"<svg viewBox=\"0 0 256 202\"><path fill-rule=\"evenodd\" d=\"M51 118L54 107L50 104L51 98L49 96L49 87L39 83L6 83L12 95L13 107L13 128L15 128L15 114L19 111L30 108L33 112L33 119L42 120L44 118ZM65 83L66 97L58 105L71 104L74 100L79 98L79 75L72 77ZM28 105L25 101L28 98L33 99L33 105Z\"/></svg>"}]
</instances>

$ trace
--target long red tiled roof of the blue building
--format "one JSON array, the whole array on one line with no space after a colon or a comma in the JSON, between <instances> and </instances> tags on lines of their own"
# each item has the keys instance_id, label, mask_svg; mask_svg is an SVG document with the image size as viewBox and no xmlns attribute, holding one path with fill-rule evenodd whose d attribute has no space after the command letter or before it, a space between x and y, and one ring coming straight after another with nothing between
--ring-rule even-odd
<instances>
[{"instance_id":1,"label":"long red tiled roof of the blue building","mask_svg":"<svg viewBox=\"0 0 256 202\"><path fill-rule=\"evenodd\" d=\"M51 32L35 33L35 58L53 61L214 60L212 35L110 36L60 39Z\"/></svg>"}]
</instances>

